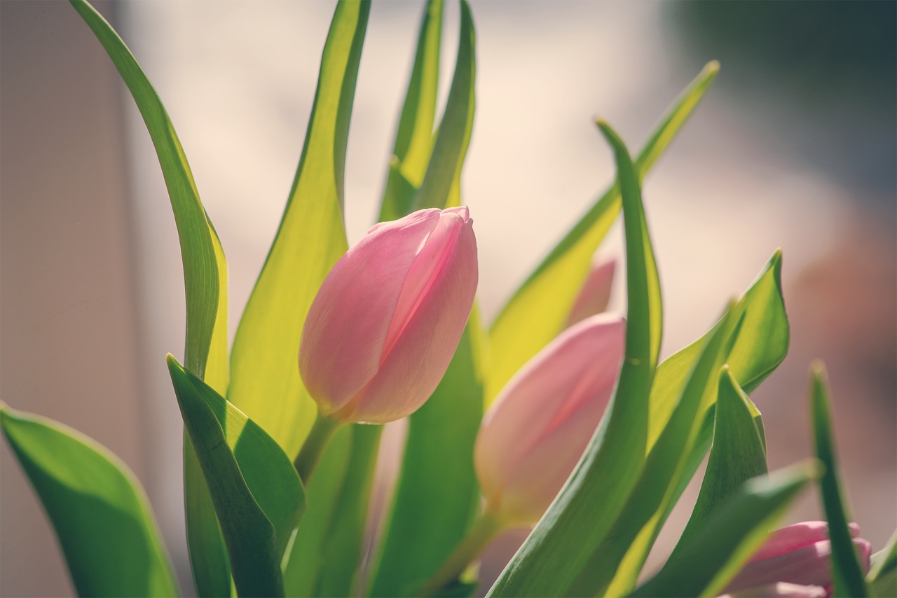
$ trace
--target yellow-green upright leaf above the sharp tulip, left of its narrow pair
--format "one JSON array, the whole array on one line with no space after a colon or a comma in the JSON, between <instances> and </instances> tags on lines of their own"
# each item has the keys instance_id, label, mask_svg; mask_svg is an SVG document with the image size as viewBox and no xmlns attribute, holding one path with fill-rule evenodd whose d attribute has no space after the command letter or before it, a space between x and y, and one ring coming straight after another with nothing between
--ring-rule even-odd
<instances>
[{"instance_id":1,"label":"yellow-green upright leaf above the sharp tulip, left of its narrow pair","mask_svg":"<svg viewBox=\"0 0 897 598\"><path fill-rule=\"evenodd\" d=\"M379 221L397 220L411 212L414 193L421 186L433 148L433 120L440 79L442 0L429 0L417 38L411 81L399 117L393 157Z\"/></svg>"}]
</instances>

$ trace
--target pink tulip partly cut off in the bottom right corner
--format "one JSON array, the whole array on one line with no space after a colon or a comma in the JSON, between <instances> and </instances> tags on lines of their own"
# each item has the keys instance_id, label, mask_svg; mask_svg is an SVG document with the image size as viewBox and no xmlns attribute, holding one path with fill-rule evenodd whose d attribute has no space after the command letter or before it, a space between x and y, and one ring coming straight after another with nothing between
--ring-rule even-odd
<instances>
[{"instance_id":1,"label":"pink tulip partly cut off in the bottom right corner","mask_svg":"<svg viewBox=\"0 0 897 598\"><path fill-rule=\"evenodd\" d=\"M872 546L858 538L859 526L849 524L854 548L858 550L860 565L869 570ZM788 525L770 534L745 568L727 585L726 592L739 595L761 586L778 582L802 586L818 586L828 595L832 590L832 542L829 526L824 521L806 521ZM809 589L806 591L810 591ZM813 590L818 592L818 590ZM766 595L766 594L756 594ZM805 595L805 594L784 594Z\"/></svg>"}]
</instances>

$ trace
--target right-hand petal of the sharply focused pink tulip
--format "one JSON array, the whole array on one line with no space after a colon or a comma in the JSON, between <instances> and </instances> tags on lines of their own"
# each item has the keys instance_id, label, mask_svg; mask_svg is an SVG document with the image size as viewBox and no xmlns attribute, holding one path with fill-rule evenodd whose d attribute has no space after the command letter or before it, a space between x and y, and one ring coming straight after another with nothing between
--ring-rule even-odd
<instances>
[{"instance_id":1,"label":"right-hand petal of the sharply focused pink tulip","mask_svg":"<svg viewBox=\"0 0 897 598\"><path fill-rule=\"evenodd\" d=\"M442 257L429 290L412 309L379 371L353 398L353 411L341 414L344 420L383 423L405 417L439 385L474 305L478 273L472 220L464 222Z\"/></svg>"}]
</instances>

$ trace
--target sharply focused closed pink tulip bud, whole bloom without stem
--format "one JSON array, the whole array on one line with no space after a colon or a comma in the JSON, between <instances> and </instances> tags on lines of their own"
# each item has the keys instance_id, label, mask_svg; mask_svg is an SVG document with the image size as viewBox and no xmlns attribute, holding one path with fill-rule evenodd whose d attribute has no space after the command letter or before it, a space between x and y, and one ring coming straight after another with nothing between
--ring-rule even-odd
<instances>
[{"instance_id":1,"label":"sharply focused closed pink tulip bud, whole bloom without stem","mask_svg":"<svg viewBox=\"0 0 897 598\"><path fill-rule=\"evenodd\" d=\"M302 330L302 381L322 415L385 423L439 385L474 304L466 207L381 222L334 265Z\"/></svg>"}]
</instances>

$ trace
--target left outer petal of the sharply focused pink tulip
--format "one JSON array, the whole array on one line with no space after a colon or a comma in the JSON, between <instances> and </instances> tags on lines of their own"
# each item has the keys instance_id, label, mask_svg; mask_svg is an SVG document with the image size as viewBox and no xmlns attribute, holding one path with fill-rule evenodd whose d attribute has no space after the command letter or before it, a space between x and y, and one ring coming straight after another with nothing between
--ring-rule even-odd
<instances>
[{"instance_id":1,"label":"left outer petal of the sharply focused pink tulip","mask_svg":"<svg viewBox=\"0 0 897 598\"><path fill-rule=\"evenodd\" d=\"M439 210L384 222L336 262L302 329L300 373L321 412L336 412L377 373L402 285Z\"/></svg>"}]
</instances>

